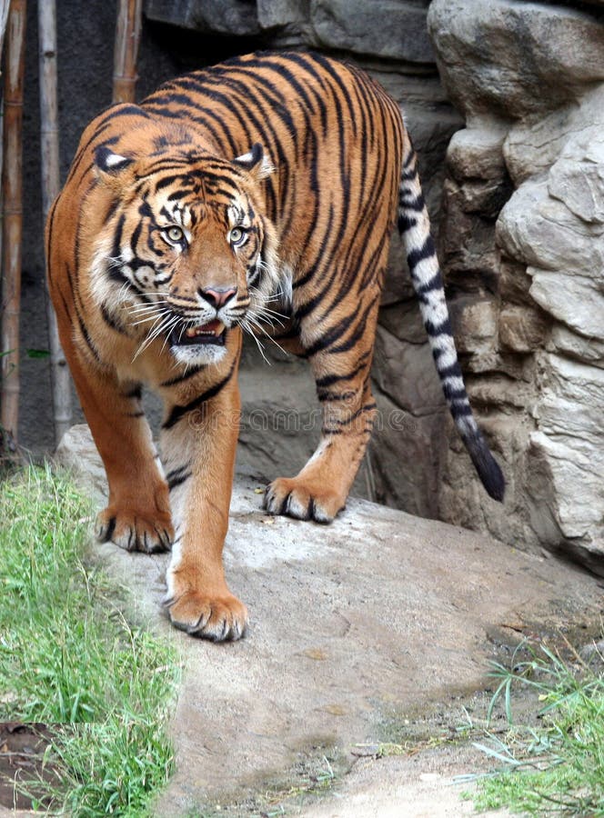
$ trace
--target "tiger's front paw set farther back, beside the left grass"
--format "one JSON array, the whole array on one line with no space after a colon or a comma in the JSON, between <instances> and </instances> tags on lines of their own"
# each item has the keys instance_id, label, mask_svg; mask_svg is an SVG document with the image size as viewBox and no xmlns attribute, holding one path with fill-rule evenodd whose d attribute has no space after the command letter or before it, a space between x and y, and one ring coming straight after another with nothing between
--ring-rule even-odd
<instances>
[{"instance_id":1,"label":"tiger's front paw set farther back, beside the left grass","mask_svg":"<svg viewBox=\"0 0 604 818\"><path fill-rule=\"evenodd\" d=\"M169 551L174 539L174 529L169 514L161 512L137 512L134 509L117 509L108 506L96 515L96 539L100 543L111 541L126 551L143 551L155 554Z\"/></svg>"}]
</instances>

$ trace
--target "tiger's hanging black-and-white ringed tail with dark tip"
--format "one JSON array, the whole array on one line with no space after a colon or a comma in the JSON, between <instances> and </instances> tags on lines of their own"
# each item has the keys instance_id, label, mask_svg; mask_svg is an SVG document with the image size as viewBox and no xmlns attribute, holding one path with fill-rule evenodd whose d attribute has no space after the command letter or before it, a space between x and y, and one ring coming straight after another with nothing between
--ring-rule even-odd
<instances>
[{"instance_id":1,"label":"tiger's hanging black-and-white ringed tail with dark tip","mask_svg":"<svg viewBox=\"0 0 604 818\"><path fill-rule=\"evenodd\" d=\"M501 501L505 481L469 405L417 165L417 155L409 145L398 189L398 231L405 243L411 280L449 411L482 484L491 497Z\"/></svg>"}]
</instances>

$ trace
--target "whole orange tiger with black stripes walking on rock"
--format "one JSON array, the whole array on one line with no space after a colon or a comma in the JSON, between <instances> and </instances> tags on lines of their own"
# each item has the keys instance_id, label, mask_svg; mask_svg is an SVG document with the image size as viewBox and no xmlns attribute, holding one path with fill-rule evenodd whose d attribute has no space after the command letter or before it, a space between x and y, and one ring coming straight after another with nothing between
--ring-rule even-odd
<instances>
[{"instance_id":1,"label":"whole orange tiger with black stripes walking on rock","mask_svg":"<svg viewBox=\"0 0 604 818\"><path fill-rule=\"evenodd\" d=\"M370 370L396 225L450 414L501 501L504 478L458 364L418 158L381 85L327 55L259 52L166 82L86 127L47 219L48 285L106 469L96 538L171 549L165 605L176 628L215 642L247 631L223 564L244 331L306 358L322 408L317 450L267 486L267 514L327 524L344 508L377 413ZM161 458L143 386L163 400Z\"/></svg>"}]
</instances>

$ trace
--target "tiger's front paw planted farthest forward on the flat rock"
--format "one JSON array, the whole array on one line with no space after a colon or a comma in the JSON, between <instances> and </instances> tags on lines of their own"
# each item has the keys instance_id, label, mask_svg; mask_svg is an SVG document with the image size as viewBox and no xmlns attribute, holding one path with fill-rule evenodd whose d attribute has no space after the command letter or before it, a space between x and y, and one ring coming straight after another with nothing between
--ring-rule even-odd
<instances>
[{"instance_id":1,"label":"tiger's front paw planted farthest forward on the flat rock","mask_svg":"<svg viewBox=\"0 0 604 818\"><path fill-rule=\"evenodd\" d=\"M235 642L247 628L247 608L227 588L220 594L188 589L166 599L172 624L211 642Z\"/></svg>"}]
</instances>

